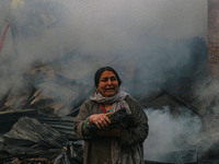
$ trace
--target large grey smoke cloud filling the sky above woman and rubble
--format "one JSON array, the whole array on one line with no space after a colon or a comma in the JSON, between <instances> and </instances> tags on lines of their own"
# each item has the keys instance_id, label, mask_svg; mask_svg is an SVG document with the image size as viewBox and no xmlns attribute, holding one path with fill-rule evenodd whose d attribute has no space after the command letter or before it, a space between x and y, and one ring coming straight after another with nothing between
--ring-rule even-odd
<instances>
[{"instance_id":1,"label":"large grey smoke cloud filling the sky above woman and rubble","mask_svg":"<svg viewBox=\"0 0 219 164\"><path fill-rule=\"evenodd\" d=\"M0 58L2 95L23 90L23 74L35 62L53 63L88 87L96 69L112 66L123 89L147 93L186 66L191 38L207 34L206 0L24 0L5 17L11 31Z\"/></svg>"}]
</instances>

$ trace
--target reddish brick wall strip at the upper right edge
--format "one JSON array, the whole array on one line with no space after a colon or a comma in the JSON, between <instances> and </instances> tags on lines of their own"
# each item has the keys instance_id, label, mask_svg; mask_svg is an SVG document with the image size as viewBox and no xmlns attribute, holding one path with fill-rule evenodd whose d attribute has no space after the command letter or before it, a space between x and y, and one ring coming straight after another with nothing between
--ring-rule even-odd
<instances>
[{"instance_id":1,"label":"reddish brick wall strip at the upper right edge","mask_svg":"<svg viewBox=\"0 0 219 164\"><path fill-rule=\"evenodd\" d=\"M219 75L219 0L208 0L209 74Z\"/></svg>"}]
</instances>

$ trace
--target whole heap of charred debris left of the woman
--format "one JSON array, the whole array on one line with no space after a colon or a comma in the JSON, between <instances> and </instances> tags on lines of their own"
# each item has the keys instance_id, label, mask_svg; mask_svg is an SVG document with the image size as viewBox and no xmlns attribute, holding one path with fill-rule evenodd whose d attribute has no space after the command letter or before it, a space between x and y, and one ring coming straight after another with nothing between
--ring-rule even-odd
<instances>
[{"instance_id":1,"label":"whole heap of charred debris left of the woman","mask_svg":"<svg viewBox=\"0 0 219 164\"><path fill-rule=\"evenodd\" d=\"M35 65L24 74L26 86L2 96L0 163L82 163L83 144L73 120L88 90L53 70Z\"/></svg>"}]
</instances>

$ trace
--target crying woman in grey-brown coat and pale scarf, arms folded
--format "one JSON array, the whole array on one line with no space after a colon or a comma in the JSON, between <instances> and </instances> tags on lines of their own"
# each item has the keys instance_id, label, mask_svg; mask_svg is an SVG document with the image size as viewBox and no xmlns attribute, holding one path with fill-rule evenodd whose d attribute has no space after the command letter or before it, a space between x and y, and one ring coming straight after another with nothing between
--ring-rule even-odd
<instances>
[{"instance_id":1,"label":"crying woman in grey-brown coat and pale scarf, arms folded","mask_svg":"<svg viewBox=\"0 0 219 164\"><path fill-rule=\"evenodd\" d=\"M148 136L148 118L140 104L119 91L122 81L111 67L99 69L96 90L80 108L74 130L84 140L84 164L143 164L142 143ZM111 126L108 115L125 108L137 125L135 128ZM95 125L97 130L89 131Z\"/></svg>"}]
</instances>

